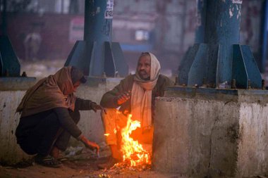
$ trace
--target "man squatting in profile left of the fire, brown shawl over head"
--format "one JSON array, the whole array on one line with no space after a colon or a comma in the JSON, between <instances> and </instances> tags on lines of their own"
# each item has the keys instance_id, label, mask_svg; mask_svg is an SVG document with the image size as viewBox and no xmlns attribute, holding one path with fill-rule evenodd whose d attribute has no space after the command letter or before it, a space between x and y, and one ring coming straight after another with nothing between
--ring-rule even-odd
<instances>
[{"instance_id":1,"label":"man squatting in profile left of the fire, brown shawl over head","mask_svg":"<svg viewBox=\"0 0 268 178\"><path fill-rule=\"evenodd\" d=\"M83 72L69 66L26 91L17 108L21 115L16 137L25 153L36 154L35 163L60 167L60 151L66 150L71 136L99 152L99 146L89 141L77 126L79 110L103 110L97 103L73 94L85 82Z\"/></svg>"}]
</instances>

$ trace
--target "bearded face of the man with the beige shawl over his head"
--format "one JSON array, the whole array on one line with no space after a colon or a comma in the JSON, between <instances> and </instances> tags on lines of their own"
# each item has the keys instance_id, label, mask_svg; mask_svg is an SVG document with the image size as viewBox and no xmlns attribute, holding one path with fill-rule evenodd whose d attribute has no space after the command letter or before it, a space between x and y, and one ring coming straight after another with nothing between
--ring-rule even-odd
<instances>
[{"instance_id":1,"label":"bearded face of the man with the beige shawl over his head","mask_svg":"<svg viewBox=\"0 0 268 178\"><path fill-rule=\"evenodd\" d=\"M150 80L151 58L150 56L142 56L138 61L138 75L142 80Z\"/></svg>"}]
</instances>

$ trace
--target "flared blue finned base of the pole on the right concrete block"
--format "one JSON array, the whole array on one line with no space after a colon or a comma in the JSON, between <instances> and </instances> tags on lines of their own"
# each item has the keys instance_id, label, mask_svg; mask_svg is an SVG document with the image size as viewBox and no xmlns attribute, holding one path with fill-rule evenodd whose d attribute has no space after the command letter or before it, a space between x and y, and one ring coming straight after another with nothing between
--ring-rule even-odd
<instances>
[{"instance_id":1,"label":"flared blue finned base of the pole on the right concrete block","mask_svg":"<svg viewBox=\"0 0 268 178\"><path fill-rule=\"evenodd\" d=\"M238 89L262 88L260 70L250 47L245 45L195 44L178 70L179 84L189 87L219 87L223 82L231 86L236 80Z\"/></svg>"}]
</instances>

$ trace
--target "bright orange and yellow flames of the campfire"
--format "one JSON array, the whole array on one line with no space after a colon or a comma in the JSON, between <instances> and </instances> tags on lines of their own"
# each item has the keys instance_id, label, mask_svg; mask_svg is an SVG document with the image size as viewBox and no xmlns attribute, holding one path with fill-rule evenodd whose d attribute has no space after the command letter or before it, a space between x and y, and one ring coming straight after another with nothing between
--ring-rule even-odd
<instances>
[{"instance_id":1,"label":"bright orange and yellow flames of the campfire","mask_svg":"<svg viewBox=\"0 0 268 178\"><path fill-rule=\"evenodd\" d=\"M128 115L127 125L121 130L123 162L130 162L130 166L151 164L150 153L138 141L130 137L130 134L140 127L140 122L138 120L131 120L131 117L132 115Z\"/></svg>"}]
</instances>

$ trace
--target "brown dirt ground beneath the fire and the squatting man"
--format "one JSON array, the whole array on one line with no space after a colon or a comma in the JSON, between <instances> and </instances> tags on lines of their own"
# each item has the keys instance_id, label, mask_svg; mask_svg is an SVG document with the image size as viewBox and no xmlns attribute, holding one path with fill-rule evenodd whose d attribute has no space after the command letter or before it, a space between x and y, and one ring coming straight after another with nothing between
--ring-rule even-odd
<instances>
[{"instance_id":1,"label":"brown dirt ground beneath the fire and the squatting man","mask_svg":"<svg viewBox=\"0 0 268 178\"><path fill-rule=\"evenodd\" d=\"M100 155L104 157L97 158L91 151L87 151L85 148L83 152L74 155L68 160L62 162L62 167L51 168L37 165L32 160L27 160L23 163L16 165L0 166L0 178L56 178L56 177L68 177L68 178L125 178L125 177L137 177L137 178L176 178L181 177L179 175L161 174L150 170L150 167L146 168L111 168L110 170L99 170L97 165L104 163L108 157L107 153L102 151Z\"/></svg>"}]
</instances>

